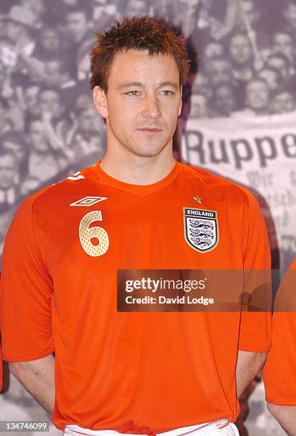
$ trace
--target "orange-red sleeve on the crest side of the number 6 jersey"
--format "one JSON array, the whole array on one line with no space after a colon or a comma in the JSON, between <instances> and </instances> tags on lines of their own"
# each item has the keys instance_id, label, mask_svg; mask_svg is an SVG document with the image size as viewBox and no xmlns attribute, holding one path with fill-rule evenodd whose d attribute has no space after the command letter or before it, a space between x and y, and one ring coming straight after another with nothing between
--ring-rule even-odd
<instances>
[{"instance_id":1,"label":"orange-red sleeve on the crest side of the number 6 jersey","mask_svg":"<svg viewBox=\"0 0 296 436\"><path fill-rule=\"evenodd\" d=\"M271 260L265 222L255 197L249 207L243 237L244 296L239 350L264 352L271 345Z\"/></svg>"}]
</instances>

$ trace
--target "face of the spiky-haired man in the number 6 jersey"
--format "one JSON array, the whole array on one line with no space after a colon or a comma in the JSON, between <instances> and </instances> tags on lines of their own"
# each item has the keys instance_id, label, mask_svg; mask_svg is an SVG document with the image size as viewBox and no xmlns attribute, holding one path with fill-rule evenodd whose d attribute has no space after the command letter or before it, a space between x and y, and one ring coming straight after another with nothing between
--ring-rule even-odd
<instances>
[{"instance_id":1,"label":"face of the spiky-haired man in the number 6 jersey","mask_svg":"<svg viewBox=\"0 0 296 436\"><path fill-rule=\"evenodd\" d=\"M117 53L108 77L108 93L98 95L106 108L108 147L124 147L138 156L155 156L172 144L181 111L179 71L173 56L148 51Z\"/></svg>"}]
</instances>

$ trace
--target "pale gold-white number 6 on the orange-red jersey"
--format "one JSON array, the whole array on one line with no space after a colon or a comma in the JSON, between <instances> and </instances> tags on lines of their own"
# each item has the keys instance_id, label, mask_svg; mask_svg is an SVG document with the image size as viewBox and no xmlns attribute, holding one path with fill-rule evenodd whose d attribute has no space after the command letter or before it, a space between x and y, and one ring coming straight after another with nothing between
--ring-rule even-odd
<instances>
[{"instance_id":1,"label":"pale gold-white number 6 on the orange-red jersey","mask_svg":"<svg viewBox=\"0 0 296 436\"><path fill-rule=\"evenodd\" d=\"M90 256L96 257L106 253L109 238L108 233L102 227L89 227L94 221L102 221L101 210L93 210L84 215L79 224L79 239L83 250ZM98 239L98 245L91 242L92 238Z\"/></svg>"}]
</instances>

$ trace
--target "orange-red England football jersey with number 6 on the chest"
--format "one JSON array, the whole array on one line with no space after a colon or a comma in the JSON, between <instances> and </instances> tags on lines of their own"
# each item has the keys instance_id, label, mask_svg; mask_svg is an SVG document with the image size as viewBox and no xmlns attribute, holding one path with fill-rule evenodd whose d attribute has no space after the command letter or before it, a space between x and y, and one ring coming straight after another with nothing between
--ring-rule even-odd
<instances>
[{"instance_id":1,"label":"orange-red England football jersey with number 6 on the chest","mask_svg":"<svg viewBox=\"0 0 296 436\"><path fill-rule=\"evenodd\" d=\"M215 215L201 239L186 229L184 211L196 209ZM55 351L58 428L147 434L235 421L238 348L270 348L270 313L118 312L118 269L270 269L256 200L178 162L141 186L98 162L26 199L4 244L4 359Z\"/></svg>"}]
</instances>

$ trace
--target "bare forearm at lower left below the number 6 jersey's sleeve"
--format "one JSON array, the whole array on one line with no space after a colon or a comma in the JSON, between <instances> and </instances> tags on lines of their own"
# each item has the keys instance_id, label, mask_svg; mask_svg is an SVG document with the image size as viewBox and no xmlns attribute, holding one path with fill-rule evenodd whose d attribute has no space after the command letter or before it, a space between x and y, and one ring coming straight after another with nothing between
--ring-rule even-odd
<instances>
[{"instance_id":1,"label":"bare forearm at lower left below the number 6 jersey's sleeve","mask_svg":"<svg viewBox=\"0 0 296 436\"><path fill-rule=\"evenodd\" d=\"M53 355L49 354L45 358L27 362L9 362L9 370L52 415L55 397Z\"/></svg>"}]
</instances>

